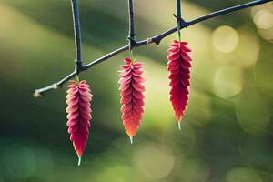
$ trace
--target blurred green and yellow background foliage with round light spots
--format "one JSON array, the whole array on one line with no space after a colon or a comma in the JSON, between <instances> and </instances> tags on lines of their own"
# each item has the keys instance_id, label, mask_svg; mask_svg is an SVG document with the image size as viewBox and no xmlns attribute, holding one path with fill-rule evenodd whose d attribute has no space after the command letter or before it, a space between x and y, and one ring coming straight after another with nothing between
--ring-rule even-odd
<instances>
[{"instance_id":1,"label":"blurred green and yellow background foliage with round light spots","mask_svg":"<svg viewBox=\"0 0 273 182\"><path fill-rule=\"evenodd\" d=\"M247 1L185 1L199 15ZM126 1L79 0L85 63L126 44ZM137 38L176 24L175 1L136 1ZM32 97L74 68L67 0L0 0L0 182L273 181L273 6L223 15L182 31L193 49L190 101L177 130L168 102L167 43L134 50L145 62L143 123L130 145L119 112L124 53L81 75L94 94L81 167L66 133L66 88Z\"/></svg>"}]
</instances>

